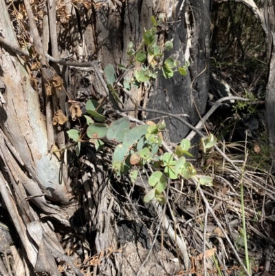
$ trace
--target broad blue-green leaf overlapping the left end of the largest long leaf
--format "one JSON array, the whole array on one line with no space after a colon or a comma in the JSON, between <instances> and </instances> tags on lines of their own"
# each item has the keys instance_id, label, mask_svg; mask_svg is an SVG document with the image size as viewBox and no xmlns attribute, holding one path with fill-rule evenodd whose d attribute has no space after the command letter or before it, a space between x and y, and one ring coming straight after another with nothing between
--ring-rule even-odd
<instances>
[{"instance_id":1,"label":"broad blue-green leaf overlapping the left end of the largest long leaf","mask_svg":"<svg viewBox=\"0 0 275 276\"><path fill-rule=\"evenodd\" d=\"M122 142L125 134L130 129L130 122L127 118L122 117L119 120L115 120L111 123L107 130L107 138L109 140L115 140L117 142Z\"/></svg>"}]
</instances>

